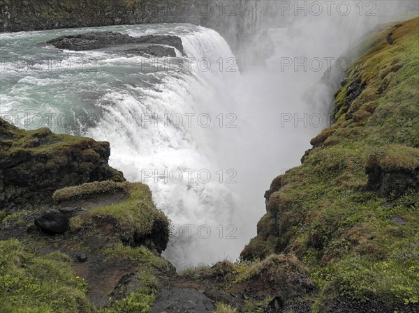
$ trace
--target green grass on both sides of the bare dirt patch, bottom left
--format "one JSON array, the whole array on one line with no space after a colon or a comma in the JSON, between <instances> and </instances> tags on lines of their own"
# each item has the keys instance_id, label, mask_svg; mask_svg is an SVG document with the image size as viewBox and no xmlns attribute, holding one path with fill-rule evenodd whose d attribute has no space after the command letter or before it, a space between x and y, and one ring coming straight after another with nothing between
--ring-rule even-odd
<instances>
[{"instance_id":1,"label":"green grass on both sides of the bare dirt patch, bottom left","mask_svg":"<svg viewBox=\"0 0 419 313\"><path fill-rule=\"evenodd\" d=\"M162 270L168 262L145 247L117 245L108 257L128 258L138 266L140 286L101 310L87 298L87 283L73 261L59 252L41 255L17 240L0 241L0 307L4 313L149 313ZM166 267L166 269L165 269Z\"/></svg>"}]
</instances>

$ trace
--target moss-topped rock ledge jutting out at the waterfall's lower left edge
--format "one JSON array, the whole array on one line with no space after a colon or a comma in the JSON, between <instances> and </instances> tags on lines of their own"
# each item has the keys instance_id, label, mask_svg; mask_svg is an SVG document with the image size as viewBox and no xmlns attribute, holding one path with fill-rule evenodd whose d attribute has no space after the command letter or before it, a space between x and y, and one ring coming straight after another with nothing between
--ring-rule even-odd
<instances>
[{"instance_id":1,"label":"moss-topped rock ledge jutting out at the waterfall's lower left edge","mask_svg":"<svg viewBox=\"0 0 419 313\"><path fill-rule=\"evenodd\" d=\"M111 197L107 198L107 195ZM66 205L81 207L96 202L89 212L73 217L73 232L97 229L102 236L115 237L127 245L145 245L158 253L166 250L168 218L154 206L147 185L109 181L87 183L57 190L53 197ZM103 198L105 201L101 202Z\"/></svg>"}]
</instances>

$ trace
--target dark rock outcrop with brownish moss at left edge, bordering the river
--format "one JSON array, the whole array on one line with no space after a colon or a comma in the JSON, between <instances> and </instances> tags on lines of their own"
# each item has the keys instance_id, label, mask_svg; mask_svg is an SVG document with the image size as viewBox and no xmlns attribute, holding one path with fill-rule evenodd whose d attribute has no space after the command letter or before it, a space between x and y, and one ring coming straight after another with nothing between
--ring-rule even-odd
<instances>
[{"instance_id":1,"label":"dark rock outcrop with brownish moss at left edge, bordering the river","mask_svg":"<svg viewBox=\"0 0 419 313\"><path fill-rule=\"evenodd\" d=\"M0 207L8 211L48 204L55 190L92 181L124 181L108 165L110 145L22 130L0 119Z\"/></svg>"}]
</instances>

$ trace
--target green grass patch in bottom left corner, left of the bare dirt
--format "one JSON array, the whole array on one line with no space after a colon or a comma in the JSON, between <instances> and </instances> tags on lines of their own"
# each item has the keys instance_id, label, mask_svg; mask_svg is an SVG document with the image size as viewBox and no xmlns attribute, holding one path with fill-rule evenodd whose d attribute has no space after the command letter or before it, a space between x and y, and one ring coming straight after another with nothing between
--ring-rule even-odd
<instances>
[{"instance_id":1,"label":"green grass patch in bottom left corner, left of the bare dirt","mask_svg":"<svg viewBox=\"0 0 419 313\"><path fill-rule=\"evenodd\" d=\"M38 255L19 241L0 241L1 312L92 312L86 293L65 254Z\"/></svg>"}]
</instances>

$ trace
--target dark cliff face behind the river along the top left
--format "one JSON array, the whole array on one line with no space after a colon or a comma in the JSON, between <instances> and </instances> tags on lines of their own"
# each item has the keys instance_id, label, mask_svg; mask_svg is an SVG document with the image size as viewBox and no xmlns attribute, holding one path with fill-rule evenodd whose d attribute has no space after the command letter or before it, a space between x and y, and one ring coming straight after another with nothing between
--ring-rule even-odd
<instances>
[{"instance_id":1,"label":"dark cliff face behind the river along the top left","mask_svg":"<svg viewBox=\"0 0 419 313\"><path fill-rule=\"evenodd\" d=\"M170 1L179 5L182 1ZM172 14L164 0L1 0L0 31L193 22L194 16Z\"/></svg>"}]
</instances>

